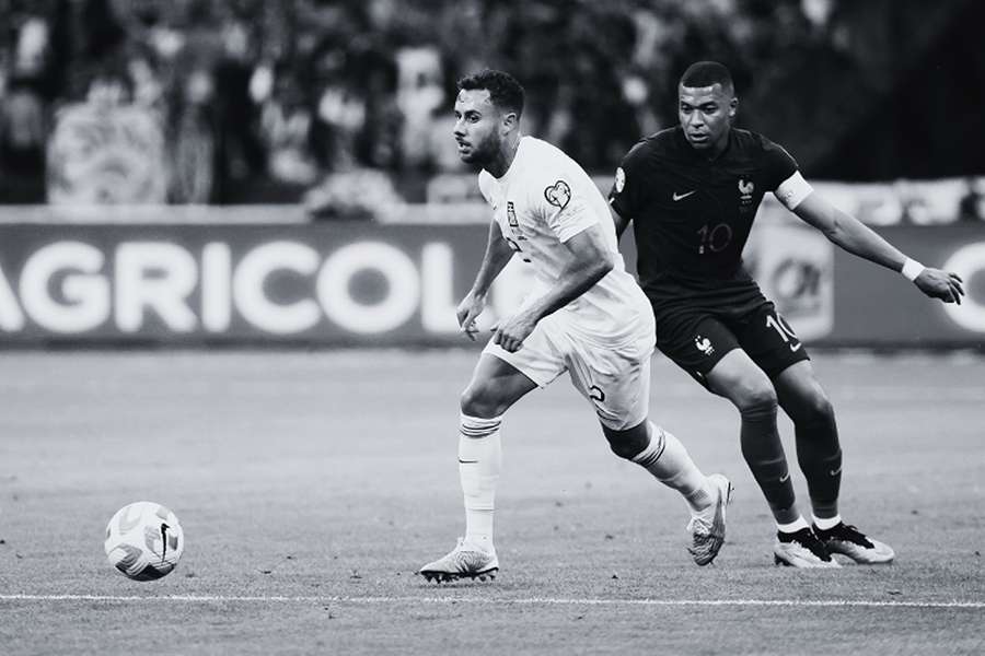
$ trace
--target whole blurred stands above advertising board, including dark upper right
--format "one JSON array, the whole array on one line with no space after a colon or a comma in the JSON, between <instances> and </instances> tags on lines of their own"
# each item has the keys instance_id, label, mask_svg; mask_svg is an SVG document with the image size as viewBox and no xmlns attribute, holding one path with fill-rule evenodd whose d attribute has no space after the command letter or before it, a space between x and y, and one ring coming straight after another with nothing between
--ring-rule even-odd
<instances>
[{"instance_id":1,"label":"whole blurred stands above advertising board, including dark upper right","mask_svg":"<svg viewBox=\"0 0 985 656\"><path fill-rule=\"evenodd\" d=\"M960 180L950 215L901 188L872 221L982 215L974 0L0 0L0 24L3 203L332 213L306 195L339 175L392 201L475 198L447 176L451 105L486 66L526 86L529 133L609 175L714 58L740 125L811 179Z\"/></svg>"}]
</instances>

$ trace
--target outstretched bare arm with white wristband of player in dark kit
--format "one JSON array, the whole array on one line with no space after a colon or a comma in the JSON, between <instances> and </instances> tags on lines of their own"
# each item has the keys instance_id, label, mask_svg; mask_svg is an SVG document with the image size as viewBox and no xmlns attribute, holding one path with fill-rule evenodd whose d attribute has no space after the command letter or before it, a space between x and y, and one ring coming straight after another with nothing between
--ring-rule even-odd
<instances>
[{"instance_id":1,"label":"outstretched bare arm with white wristband of player in dark kit","mask_svg":"<svg viewBox=\"0 0 985 656\"><path fill-rule=\"evenodd\" d=\"M931 298L940 298L945 303L961 303L964 288L957 273L924 267L909 259L858 219L837 209L816 192L811 192L792 211L848 253L902 272Z\"/></svg>"}]
</instances>

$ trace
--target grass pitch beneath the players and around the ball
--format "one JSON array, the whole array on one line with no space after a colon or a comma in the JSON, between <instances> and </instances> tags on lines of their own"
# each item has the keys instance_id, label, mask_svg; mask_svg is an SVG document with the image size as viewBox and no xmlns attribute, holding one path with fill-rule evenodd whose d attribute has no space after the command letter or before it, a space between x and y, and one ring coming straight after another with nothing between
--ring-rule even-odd
<instances>
[{"instance_id":1,"label":"grass pitch beneath the players and around the ball","mask_svg":"<svg viewBox=\"0 0 985 656\"><path fill-rule=\"evenodd\" d=\"M985 359L814 354L843 515L893 565L774 566L737 413L657 358L652 419L738 488L716 564L691 562L683 502L609 452L563 378L503 422L499 576L438 587L414 572L463 530L457 395L476 356L0 354L0 652L985 651ZM139 500L185 530L158 582L103 555L106 522Z\"/></svg>"}]
</instances>

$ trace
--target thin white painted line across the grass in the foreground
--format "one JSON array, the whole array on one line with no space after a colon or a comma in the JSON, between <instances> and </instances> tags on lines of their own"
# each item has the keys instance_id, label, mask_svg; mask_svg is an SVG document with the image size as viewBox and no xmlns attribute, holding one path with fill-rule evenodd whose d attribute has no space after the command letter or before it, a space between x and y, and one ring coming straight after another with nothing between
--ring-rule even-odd
<instances>
[{"instance_id":1,"label":"thin white painted line across the grass in the foreground","mask_svg":"<svg viewBox=\"0 0 985 656\"><path fill-rule=\"evenodd\" d=\"M316 597L223 595L0 595L0 601L187 601L192 604L300 602L300 604L475 604L488 606L766 606L797 608L955 608L985 609L985 601L877 601L865 599L598 599L564 597Z\"/></svg>"}]
</instances>

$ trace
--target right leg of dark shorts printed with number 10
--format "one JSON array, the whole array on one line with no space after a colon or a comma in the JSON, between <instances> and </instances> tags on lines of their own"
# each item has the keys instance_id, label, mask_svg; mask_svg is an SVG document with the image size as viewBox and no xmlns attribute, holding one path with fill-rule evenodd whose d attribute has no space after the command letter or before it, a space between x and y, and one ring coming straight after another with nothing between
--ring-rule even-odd
<instances>
[{"instance_id":1,"label":"right leg of dark shorts printed with number 10","mask_svg":"<svg viewBox=\"0 0 985 656\"><path fill-rule=\"evenodd\" d=\"M773 379L789 366L810 360L803 342L772 303L738 323L735 335L742 350Z\"/></svg>"}]
</instances>

